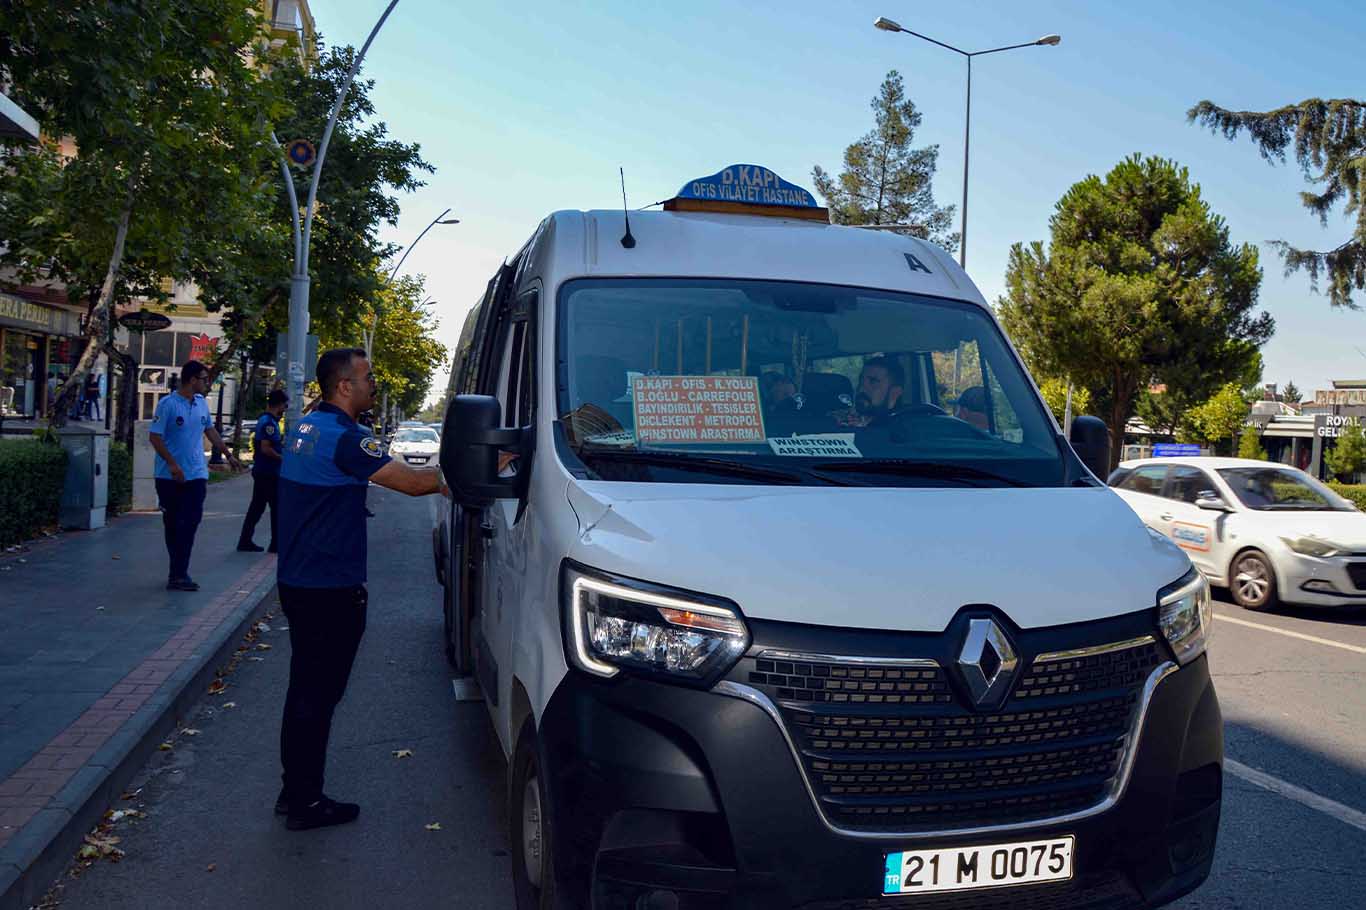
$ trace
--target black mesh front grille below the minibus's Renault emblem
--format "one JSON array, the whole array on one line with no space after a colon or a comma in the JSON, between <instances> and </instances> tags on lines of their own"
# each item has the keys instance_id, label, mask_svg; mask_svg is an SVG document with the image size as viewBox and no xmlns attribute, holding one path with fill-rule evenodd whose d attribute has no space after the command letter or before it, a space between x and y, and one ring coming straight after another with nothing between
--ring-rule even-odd
<instances>
[{"instance_id":1,"label":"black mesh front grille below the minibus's Renault emblem","mask_svg":"<svg viewBox=\"0 0 1366 910\"><path fill-rule=\"evenodd\" d=\"M836 828L953 831L1085 812L1113 792L1167 665L1143 637L1037 656L1005 704L967 704L934 661L747 657ZM735 679L735 676L732 676Z\"/></svg>"}]
</instances>

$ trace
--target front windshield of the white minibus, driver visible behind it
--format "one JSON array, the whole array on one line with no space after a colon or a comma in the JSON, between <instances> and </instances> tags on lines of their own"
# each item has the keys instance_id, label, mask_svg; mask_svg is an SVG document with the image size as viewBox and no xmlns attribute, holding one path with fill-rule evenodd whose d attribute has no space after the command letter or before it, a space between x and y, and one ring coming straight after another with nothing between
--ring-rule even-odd
<instances>
[{"instance_id":1,"label":"front windshield of the white minibus, driver visible behind it","mask_svg":"<svg viewBox=\"0 0 1366 910\"><path fill-rule=\"evenodd\" d=\"M1056 426L981 307L739 279L581 279L557 417L597 477L1057 486Z\"/></svg>"}]
</instances>

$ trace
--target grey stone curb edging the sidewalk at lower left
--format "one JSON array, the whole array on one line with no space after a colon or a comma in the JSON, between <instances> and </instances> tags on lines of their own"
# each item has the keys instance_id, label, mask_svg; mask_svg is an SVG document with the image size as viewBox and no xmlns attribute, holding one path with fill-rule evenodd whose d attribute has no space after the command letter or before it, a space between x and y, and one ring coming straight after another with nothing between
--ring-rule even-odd
<instances>
[{"instance_id":1,"label":"grey stone curb edging the sidewalk at lower left","mask_svg":"<svg viewBox=\"0 0 1366 910\"><path fill-rule=\"evenodd\" d=\"M0 847L0 910L30 910L42 899L83 843L119 801L178 720L205 694L238 641L265 612L275 571L223 619L195 654L180 664L142 706L100 746L46 806Z\"/></svg>"}]
</instances>

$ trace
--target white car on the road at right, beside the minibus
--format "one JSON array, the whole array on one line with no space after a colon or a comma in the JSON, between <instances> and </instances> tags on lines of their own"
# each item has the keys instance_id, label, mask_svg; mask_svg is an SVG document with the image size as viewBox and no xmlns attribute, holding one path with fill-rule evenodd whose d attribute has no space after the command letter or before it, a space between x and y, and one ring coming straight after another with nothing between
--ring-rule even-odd
<instances>
[{"instance_id":1,"label":"white car on the road at right, beside the minibus","mask_svg":"<svg viewBox=\"0 0 1366 910\"><path fill-rule=\"evenodd\" d=\"M1366 515L1299 469L1149 458L1123 462L1109 484L1240 607L1366 605Z\"/></svg>"}]
</instances>

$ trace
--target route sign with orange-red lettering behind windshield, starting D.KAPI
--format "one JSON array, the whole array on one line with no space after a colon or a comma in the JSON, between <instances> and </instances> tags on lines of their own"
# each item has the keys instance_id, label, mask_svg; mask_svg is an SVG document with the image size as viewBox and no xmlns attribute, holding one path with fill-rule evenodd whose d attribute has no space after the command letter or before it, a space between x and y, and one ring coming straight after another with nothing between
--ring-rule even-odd
<instances>
[{"instance_id":1,"label":"route sign with orange-red lettering behind windshield, starting D.KAPI","mask_svg":"<svg viewBox=\"0 0 1366 910\"><path fill-rule=\"evenodd\" d=\"M641 443L762 443L754 376L635 376L635 437Z\"/></svg>"}]
</instances>

